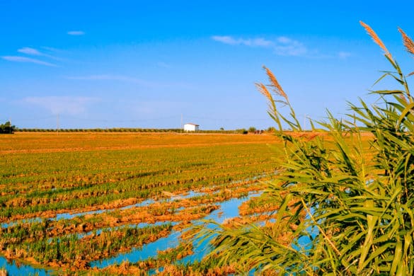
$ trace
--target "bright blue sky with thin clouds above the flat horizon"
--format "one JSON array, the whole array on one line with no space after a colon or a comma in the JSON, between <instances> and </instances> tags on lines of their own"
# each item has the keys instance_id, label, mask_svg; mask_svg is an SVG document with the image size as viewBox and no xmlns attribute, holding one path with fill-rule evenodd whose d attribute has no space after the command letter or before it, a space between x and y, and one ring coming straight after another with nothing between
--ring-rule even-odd
<instances>
[{"instance_id":1,"label":"bright blue sky with thin clouds above the flat horizon","mask_svg":"<svg viewBox=\"0 0 414 276\"><path fill-rule=\"evenodd\" d=\"M267 128L272 69L299 117L338 117L390 69L412 1L0 0L0 120L17 127ZM385 82L383 86L394 84ZM381 88L381 85L378 86Z\"/></svg>"}]
</instances>

